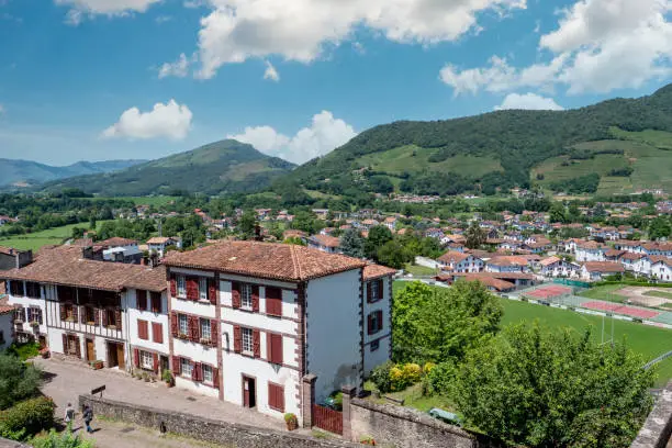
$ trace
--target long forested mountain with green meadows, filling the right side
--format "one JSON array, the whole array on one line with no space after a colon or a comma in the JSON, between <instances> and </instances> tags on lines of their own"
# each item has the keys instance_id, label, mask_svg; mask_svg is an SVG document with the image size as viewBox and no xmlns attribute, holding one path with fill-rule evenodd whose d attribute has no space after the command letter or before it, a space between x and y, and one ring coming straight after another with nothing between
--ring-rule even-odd
<instances>
[{"instance_id":1,"label":"long forested mountain with green meadows, filling the right side","mask_svg":"<svg viewBox=\"0 0 672 448\"><path fill-rule=\"evenodd\" d=\"M672 85L652 96L568 111L507 110L368 130L292 172L331 194L392 190L493 193L529 187L672 191Z\"/></svg>"}]
</instances>

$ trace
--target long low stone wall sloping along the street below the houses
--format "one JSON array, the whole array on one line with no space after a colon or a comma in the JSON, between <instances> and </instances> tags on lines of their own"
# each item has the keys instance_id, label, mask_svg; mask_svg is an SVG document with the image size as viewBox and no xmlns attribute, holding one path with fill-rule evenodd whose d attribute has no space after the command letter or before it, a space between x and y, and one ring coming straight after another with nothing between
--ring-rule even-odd
<instances>
[{"instance_id":1,"label":"long low stone wall sloping along the street below the houses","mask_svg":"<svg viewBox=\"0 0 672 448\"><path fill-rule=\"evenodd\" d=\"M91 395L79 395L80 408L88 404L93 415L132 423L160 430L236 448L356 448L338 439L315 439L254 426L219 422L189 414L167 412L148 406L136 406Z\"/></svg>"}]
</instances>

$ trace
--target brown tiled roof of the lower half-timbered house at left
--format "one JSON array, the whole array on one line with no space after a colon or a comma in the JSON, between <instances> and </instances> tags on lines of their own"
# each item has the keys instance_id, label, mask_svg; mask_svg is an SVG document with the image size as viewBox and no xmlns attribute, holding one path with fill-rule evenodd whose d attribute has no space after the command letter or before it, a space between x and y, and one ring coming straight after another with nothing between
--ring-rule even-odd
<instances>
[{"instance_id":1,"label":"brown tiled roof of the lower half-timbered house at left","mask_svg":"<svg viewBox=\"0 0 672 448\"><path fill-rule=\"evenodd\" d=\"M139 265L94 261L82 258L82 248L59 246L41 251L34 262L21 269L0 271L0 278L64 284L105 291L127 288L166 290L166 269Z\"/></svg>"}]
</instances>

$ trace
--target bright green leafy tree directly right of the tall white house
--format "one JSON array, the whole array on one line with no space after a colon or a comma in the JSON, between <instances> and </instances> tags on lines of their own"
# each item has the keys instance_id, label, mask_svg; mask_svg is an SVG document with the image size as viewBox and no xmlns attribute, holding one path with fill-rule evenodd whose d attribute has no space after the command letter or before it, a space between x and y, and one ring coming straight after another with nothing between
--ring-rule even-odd
<instances>
[{"instance_id":1,"label":"bright green leafy tree directly right of the tall white house","mask_svg":"<svg viewBox=\"0 0 672 448\"><path fill-rule=\"evenodd\" d=\"M500 328L499 299L480 282L450 289L413 282L392 304L393 357L399 362L460 360Z\"/></svg>"}]
</instances>

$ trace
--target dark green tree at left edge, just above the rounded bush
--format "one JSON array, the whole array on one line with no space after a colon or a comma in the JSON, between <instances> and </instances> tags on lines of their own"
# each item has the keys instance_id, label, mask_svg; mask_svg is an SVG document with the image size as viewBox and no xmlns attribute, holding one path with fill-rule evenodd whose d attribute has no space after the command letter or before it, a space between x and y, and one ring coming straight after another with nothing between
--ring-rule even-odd
<instances>
[{"instance_id":1,"label":"dark green tree at left edge, just above the rounded bush","mask_svg":"<svg viewBox=\"0 0 672 448\"><path fill-rule=\"evenodd\" d=\"M0 410L34 396L42 384L40 369L16 356L0 354Z\"/></svg>"}]
</instances>

